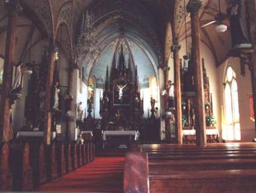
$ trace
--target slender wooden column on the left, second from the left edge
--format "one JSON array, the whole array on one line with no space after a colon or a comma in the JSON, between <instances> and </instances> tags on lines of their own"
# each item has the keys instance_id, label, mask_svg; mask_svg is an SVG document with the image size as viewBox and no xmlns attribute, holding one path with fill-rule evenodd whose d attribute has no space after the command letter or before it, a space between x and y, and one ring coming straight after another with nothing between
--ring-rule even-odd
<instances>
[{"instance_id":1,"label":"slender wooden column on the left, second from the left edge","mask_svg":"<svg viewBox=\"0 0 256 193\"><path fill-rule=\"evenodd\" d=\"M47 66L46 98L44 102L44 144L51 144L51 90L54 73L54 45L49 46L49 62Z\"/></svg>"}]
</instances>

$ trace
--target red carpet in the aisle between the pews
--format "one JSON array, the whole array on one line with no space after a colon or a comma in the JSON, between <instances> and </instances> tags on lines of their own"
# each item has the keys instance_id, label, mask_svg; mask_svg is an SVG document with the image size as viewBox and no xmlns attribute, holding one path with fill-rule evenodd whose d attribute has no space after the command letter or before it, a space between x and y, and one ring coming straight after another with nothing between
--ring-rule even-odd
<instances>
[{"instance_id":1,"label":"red carpet in the aisle between the pews","mask_svg":"<svg viewBox=\"0 0 256 193\"><path fill-rule=\"evenodd\" d=\"M44 192L122 192L124 157L99 157L40 187Z\"/></svg>"}]
</instances>

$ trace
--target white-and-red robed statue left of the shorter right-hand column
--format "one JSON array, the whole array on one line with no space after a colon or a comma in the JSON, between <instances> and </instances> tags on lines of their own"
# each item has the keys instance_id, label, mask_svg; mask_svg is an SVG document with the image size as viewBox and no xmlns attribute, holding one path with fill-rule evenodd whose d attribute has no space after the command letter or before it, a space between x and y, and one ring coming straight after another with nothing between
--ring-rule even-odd
<instances>
[{"instance_id":1,"label":"white-and-red robed statue left of the shorter right-hand column","mask_svg":"<svg viewBox=\"0 0 256 193\"><path fill-rule=\"evenodd\" d=\"M165 90L162 90L162 96L165 97L165 109L174 108L174 84L171 80L168 81Z\"/></svg>"}]
</instances>

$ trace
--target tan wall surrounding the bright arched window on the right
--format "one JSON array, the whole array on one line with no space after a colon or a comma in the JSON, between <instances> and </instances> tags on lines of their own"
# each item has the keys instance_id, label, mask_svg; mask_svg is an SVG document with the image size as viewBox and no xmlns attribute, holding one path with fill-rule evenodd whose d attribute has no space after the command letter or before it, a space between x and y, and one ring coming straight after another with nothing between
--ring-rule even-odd
<instances>
[{"instance_id":1,"label":"tan wall surrounding the bright arched window on the right","mask_svg":"<svg viewBox=\"0 0 256 193\"><path fill-rule=\"evenodd\" d=\"M230 57L220 67L219 71L219 90L220 90L220 104L224 105L224 86L225 73L228 64L234 69L237 80L238 94L239 94L239 114L240 114L240 129L241 141L250 142L255 138L254 122L250 120L250 103L248 93L252 93L252 83L250 78L250 70L245 66L245 76L240 74L240 59ZM225 128L224 128L225 129Z\"/></svg>"}]
</instances>

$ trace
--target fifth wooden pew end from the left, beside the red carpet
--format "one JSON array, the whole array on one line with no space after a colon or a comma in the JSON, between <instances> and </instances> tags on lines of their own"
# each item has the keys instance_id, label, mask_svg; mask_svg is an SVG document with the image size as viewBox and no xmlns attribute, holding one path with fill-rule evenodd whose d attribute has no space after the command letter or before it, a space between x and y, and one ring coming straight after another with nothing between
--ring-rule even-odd
<instances>
[{"instance_id":1,"label":"fifth wooden pew end from the left, beside the red carpet","mask_svg":"<svg viewBox=\"0 0 256 193\"><path fill-rule=\"evenodd\" d=\"M57 172L59 176L67 173L66 171L66 159L64 155L64 143L56 143L56 159L57 159Z\"/></svg>"}]
</instances>

